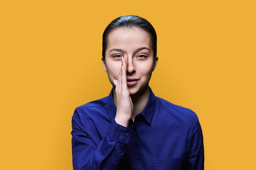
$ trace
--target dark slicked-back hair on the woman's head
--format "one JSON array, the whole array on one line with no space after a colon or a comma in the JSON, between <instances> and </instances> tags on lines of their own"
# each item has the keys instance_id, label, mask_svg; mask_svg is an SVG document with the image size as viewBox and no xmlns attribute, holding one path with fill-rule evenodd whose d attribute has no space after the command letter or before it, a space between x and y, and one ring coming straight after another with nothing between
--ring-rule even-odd
<instances>
[{"instance_id":1,"label":"dark slicked-back hair on the woman's head","mask_svg":"<svg viewBox=\"0 0 256 170\"><path fill-rule=\"evenodd\" d=\"M102 36L102 57L103 60L105 60L105 53L108 45L108 34L117 28L129 28L131 29L132 27L137 27L140 29L143 29L147 31L150 34L151 38L151 45L152 49L154 52L154 57L157 55L157 33L155 32L154 27L148 22L148 20L141 18L136 15L126 15L126 16L121 16L119 18L116 18L108 26L106 27L105 31L103 32Z\"/></svg>"}]
</instances>

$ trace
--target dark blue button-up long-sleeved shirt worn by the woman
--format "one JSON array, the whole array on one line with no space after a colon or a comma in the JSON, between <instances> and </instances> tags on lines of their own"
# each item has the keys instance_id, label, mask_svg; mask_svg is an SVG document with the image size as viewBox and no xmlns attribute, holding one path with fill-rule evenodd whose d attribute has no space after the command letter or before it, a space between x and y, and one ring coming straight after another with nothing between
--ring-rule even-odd
<instances>
[{"instance_id":1,"label":"dark blue button-up long-sleeved shirt worn by the woman","mask_svg":"<svg viewBox=\"0 0 256 170\"><path fill-rule=\"evenodd\" d=\"M75 109L72 116L74 170L203 170L203 136L188 108L150 95L128 127L115 121L113 89L108 97Z\"/></svg>"}]
</instances>

